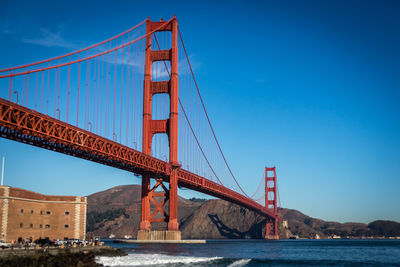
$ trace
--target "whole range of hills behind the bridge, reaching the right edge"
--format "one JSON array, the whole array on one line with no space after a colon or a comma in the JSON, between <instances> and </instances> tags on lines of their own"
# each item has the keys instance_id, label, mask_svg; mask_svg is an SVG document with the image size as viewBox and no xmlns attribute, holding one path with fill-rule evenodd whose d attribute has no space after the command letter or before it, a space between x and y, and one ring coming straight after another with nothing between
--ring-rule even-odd
<instances>
[{"instance_id":1,"label":"whole range of hills behind the bridge, reaching the right edge","mask_svg":"<svg viewBox=\"0 0 400 267\"><path fill-rule=\"evenodd\" d=\"M140 223L141 187L117 186L88 196L88 236L136 237ZM178 221L182 238L262 238L265 219L248 209L224 200L187 200L178 197ZM330 236L367 237L400 236L400 224L391 221L364 223L328 222L309 217L297 210L279 209L288 227L279 225L280 238L299 236L321 238ZM153 229L165 229L165 223Z\"/></svg>"}]
</instances>

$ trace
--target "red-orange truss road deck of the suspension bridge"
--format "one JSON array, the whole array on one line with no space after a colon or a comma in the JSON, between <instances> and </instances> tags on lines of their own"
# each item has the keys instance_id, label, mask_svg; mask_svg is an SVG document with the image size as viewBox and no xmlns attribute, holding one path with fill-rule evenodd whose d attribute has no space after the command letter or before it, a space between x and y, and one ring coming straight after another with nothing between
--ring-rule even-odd
<instances>
[{"instance_id":1,"label":"red-orange truss road deck of the suspension bridge","mask_svg":"<svg viewBox=\"0 0 400 267\"><path fill-rule=\"evenodd\" d=\"M140 151L0 98L0 136L169 181L169 164ZM273 211L229 188L180 169L178 185L236 203L267 218Z\"/></svg>"}]
</instances>

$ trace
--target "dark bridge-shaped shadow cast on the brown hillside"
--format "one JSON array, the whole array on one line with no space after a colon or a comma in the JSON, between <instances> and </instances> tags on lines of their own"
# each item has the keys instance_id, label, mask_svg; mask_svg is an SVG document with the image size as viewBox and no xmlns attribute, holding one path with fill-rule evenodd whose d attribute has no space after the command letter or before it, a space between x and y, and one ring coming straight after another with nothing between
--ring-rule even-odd
<instances>
[{"instance_id":1,"label":"dark bridge-shaped shadow cast on the brown hillside","mask_svg":"<svg viewBox=\"0 0 400 267\"><path fill-rule=\"evenodd\" d=\"M221 236L229 239L248 239L248 238L263 238L262 228L265 225L265 220L259 223L254 223L249 230L241 232L237 229L226 226L217 214L208 214L211 222L215 224Z\"/></svg>"}]
</instances>

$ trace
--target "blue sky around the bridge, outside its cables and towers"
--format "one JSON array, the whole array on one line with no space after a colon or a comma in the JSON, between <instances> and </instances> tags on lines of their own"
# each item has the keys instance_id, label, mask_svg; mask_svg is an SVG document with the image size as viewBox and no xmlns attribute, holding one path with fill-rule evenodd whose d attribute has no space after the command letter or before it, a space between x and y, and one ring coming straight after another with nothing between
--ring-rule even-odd
<instances>
[{"instance_id":1,"label":"blue sky around the bridge, outside its cables and towers","mask_svg":"<svg viewBox=\"0 0 400 267\"><path fill-rule=\"evenodd\" d=\"M176 14L216 133L246 191L256 189L265 165L276 165L283 207L341 222L400 221L400 3L214 2L3 0L0 69ZM5 184L44 194L140 183L6 139L0 152Z\"/></svg>"}]
</instances>

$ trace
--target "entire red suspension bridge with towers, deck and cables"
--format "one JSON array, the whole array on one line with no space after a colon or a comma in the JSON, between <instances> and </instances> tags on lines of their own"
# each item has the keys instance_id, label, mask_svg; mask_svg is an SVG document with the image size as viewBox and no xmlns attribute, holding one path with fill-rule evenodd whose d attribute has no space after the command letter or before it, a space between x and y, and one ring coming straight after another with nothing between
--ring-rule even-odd
<instances>
[{"instance_id":1,"label":"entire red suspension bridge with towers, deck and cables","mask_svg":"<svg viewBox=\"0 0 400 267\"><path fill-rule=\"evenodd\" d=\"M1 137L142 176L138 238L151 239L152 224L166 222L162 238L180 239L178 186L265 216L266 237L277 236L275 167L265 168L252 196L240 186L175 17L147 19L88 48L0 70L0 86Z\"/></svg>"}]
</instances>

